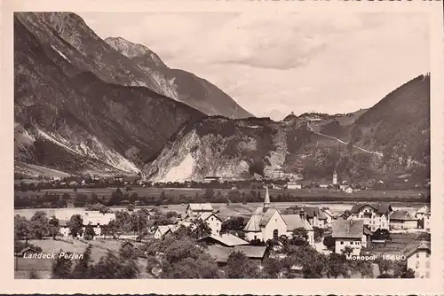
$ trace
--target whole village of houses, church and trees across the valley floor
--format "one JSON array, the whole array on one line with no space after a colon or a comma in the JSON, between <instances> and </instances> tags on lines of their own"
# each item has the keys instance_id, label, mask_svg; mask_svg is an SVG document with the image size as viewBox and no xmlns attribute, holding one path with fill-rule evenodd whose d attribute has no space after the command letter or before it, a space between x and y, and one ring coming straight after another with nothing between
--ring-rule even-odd
<instances>
[{"instance_id":1,"label":"whole village of houses, church and trees across the valley floor","mask_svg":"<svg viewBox=\"0 0 444 296\"><path fill-rule=\"evenodd\" d=\"M33 260L44 261L36 265L46 264L47 271L52 270L48 264L53 262L38 259L39 252L63 249L67 253L79 244L83 247L73 250L83 252L91 244L97 246L93 253L99 245L103 251L113 245L116 253L131 248L143 266L150 261L147 254L153 253L150 248L155 246L155 259L151 258L155 267L146 267L145 277L163 277L162 256L168 244L192 239L220 270L233 264L236 253L242 253L242 258L253 262L258 270L270 269L271 261L287 263L286 272L280 265L273 276L262 271L260 276L239 277L430 277L429 206L393 209L389 203L361 202L345 211L311 205L281 208L270 200L271 186L264 187L263 202L250 215L227 213L226 206L215 207L208 202L181 205L178 211L165 206L120 211L67 208L36 212L29 220L16 215L16 272L22 277L36 272L26 259L33 258L32 253L36 254ZM166 245L159 247L162 242ZM307 254L325 259L323 271L307 267L302 260ZM351 255L375 260L357 262L350 260Z\"/></svg>"}]
</instances>

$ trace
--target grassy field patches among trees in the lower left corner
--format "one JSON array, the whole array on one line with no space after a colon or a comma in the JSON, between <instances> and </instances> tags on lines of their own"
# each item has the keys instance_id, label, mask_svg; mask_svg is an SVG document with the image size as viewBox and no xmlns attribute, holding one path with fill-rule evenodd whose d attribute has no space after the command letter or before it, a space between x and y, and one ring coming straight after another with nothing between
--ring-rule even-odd
<instances>
[{"instance_id":1,"label":"grassy field patches among trees in the lower left corner","mask_svg":"<svg viewBox=\"0 0 444 296\"><path fill-rule=\"evenodd\" d=\"M99 261L99 259L107 254L107 251L112 251L114 253L118 253L120 246L122 245L124 240L110 240L110 239L97 239L91 240L88 244L92 245L91 249L91 259L94 262ZM44 239L44 240L30 240L30 244L38 245L42 248L42 253L59 253L60 250L63 252L72 252L72 253L83 253L88 244L83 243L80 240L72 240L73 244L67 243L62 240L52 240L52 239ZM134 245L140 245L140 243L134 243ZM14 270L15 270L15 278L29 278L29 273L31 270L35 270L37 272L38 277L40 278L50 278L51 270L52 270L53 260L50 259L31 259L31 258L15 258L14 259ZM140 267L140 277L147 277L145 272L145 261L139 259L139 267Z\"/></svg>"}]
</instances>

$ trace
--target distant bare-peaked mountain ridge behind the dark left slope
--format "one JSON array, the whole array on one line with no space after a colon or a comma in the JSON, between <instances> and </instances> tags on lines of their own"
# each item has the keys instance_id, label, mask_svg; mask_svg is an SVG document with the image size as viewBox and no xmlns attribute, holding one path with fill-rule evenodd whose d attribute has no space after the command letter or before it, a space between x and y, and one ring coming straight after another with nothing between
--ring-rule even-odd
<instances>
[{"instance_id":1,"label":"distant bare-peaked mountain ridge behind the dark left slope","mask_svg":"<svg viewBox=\"0 0 444 296\"><path fill-rule=\"evenodd\" d=\"M175 90L172 97L178 101L208 115L223 115L233 119L251 116L233 98L210 82L183 70L170 69L146 46L131 43L121 37L109 37L105 41L115 51L134 61L147 75L170 82L171 88Z\"/></svg>"}]
</instances>

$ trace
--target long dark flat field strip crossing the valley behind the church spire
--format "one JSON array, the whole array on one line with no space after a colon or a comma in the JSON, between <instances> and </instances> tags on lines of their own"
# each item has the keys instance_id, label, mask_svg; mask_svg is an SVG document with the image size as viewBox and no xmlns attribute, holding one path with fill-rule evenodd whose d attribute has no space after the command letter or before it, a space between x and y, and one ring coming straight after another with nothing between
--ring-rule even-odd
<instances>
[{"instance_id":1,"label":"long dark flat field strip crossing the valley behind the church spire","mask_svg":"<svg viewBox=\"0 0 444 296\"><path fill-rule=\"evenodd\" d=\"M157 198L161 194L162 191L165 192L165 194L173 195L173 196L188 196L188 197L194 197L195 194L202 195L205 193L204 189L197 189L197 188L154 188L154 187L140 187L140 186L134 186L130 185L132 192L137 192L140 197L142 196L148 196L148 197L154 197ZM111 197L111 194L116 190L116 188L79 188L76 192L77 193L84 193L87 195L91 195L91 193L96 193L100 198L104 197L106 199L109 199ZM122 189L124 192L124 189ZM63 193L68 193L72 196L75 195L75 191L72 189L49 189L49 190L43 190L43 191L15 191L14 194L20 197L26 197L26 196L33 196L33 195L44 195L44 192L48 192L49 194L59 194L62 195ZM229 189L215 189L215 193L221 192L222 195L226 195L229 191ZM241 189L240 191L249 193L251 189ZM261 196L264 196L265 190L254 190L254 191L261 191ZM390 190L390 191L355 191L351 194L344 193L342 191L335 191L331 189L322 189L322 188L314 188L314 189L287 189L287 190L278 190L278 189L271 189L270 190L270 196L278 196L279 194L288 193L296 198L320 198L321 197L332 197L337 198L338 200L341 199L372 199L372 198L384 198L384 199L421 199L421 197L426 196L427 194L430 194L429 190L415 190L415 191L398 191L398 190Z\"/></svg>"}]
</instances>

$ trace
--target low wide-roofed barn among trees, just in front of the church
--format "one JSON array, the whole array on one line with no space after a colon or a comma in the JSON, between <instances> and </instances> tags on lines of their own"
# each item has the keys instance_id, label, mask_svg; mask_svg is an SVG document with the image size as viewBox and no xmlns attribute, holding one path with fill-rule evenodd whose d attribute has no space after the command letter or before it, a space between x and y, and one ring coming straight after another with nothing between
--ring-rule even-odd
<instances>
[{"instance_id":1,"label":"low wide-roofed barn among trees, just in front of the church","mask_svg":"<svg viewBox=\"0 0 444 296\"><path fill-rule=\"evenodd\" d=\"M226 247L223 245L209 245L208 253L218 263L218 266L225 266L231 253L240 252L247 258L262 264L262 261L268 255L267 247L262 245L235 245L234 247Z\"/></svg>"}]
</instances>

